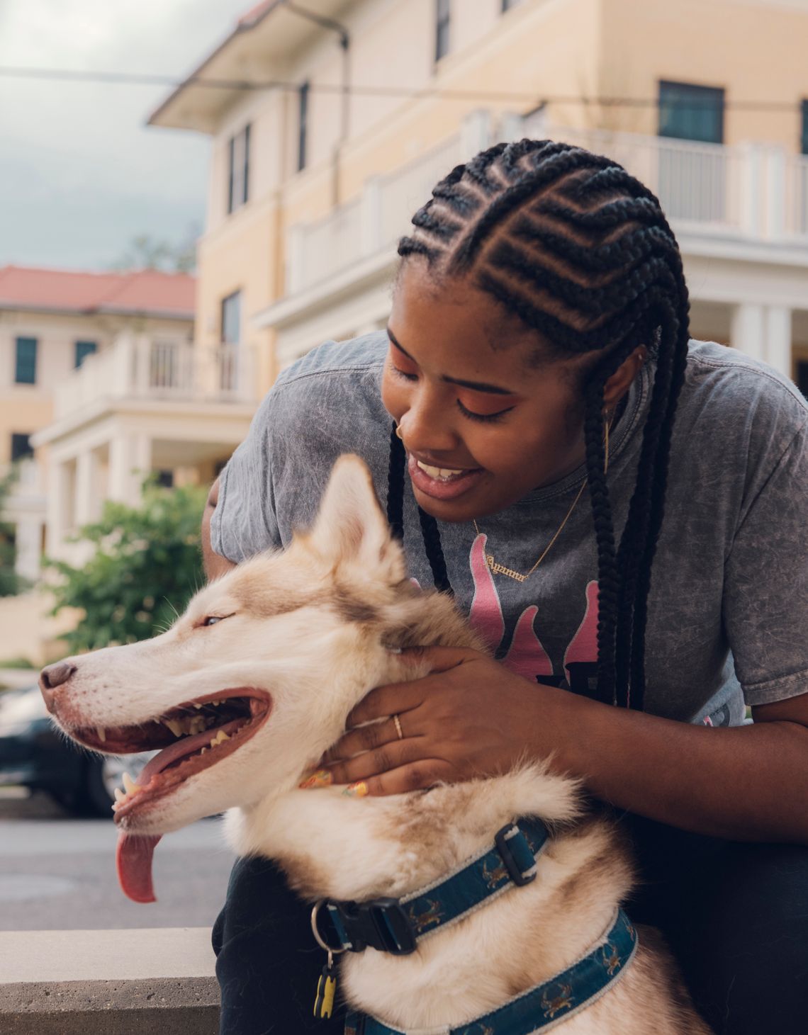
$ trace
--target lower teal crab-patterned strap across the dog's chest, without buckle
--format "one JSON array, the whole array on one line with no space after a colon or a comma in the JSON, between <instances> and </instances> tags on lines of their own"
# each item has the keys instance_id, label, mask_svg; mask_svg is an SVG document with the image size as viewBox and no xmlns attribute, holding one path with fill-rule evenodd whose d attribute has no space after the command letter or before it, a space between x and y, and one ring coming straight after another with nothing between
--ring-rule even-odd
<instances>
[{"instance_id":1,"label":"lower teal crab-patterned strap across the dog's chest, without buckle","mask_svg":"<svg viewBox=\"0 0 808 1035\"><path fill-rule=\"evenodd\" d=\"M604 939L595 949L550 981L535 985L503 1006L459 1028L438 1029L439 1035L531 1035L561 1024L591 1006L607 992L634 957L637 933L617 910ZM430 1029L436 1035L435 1029ZM349 1013L345 1035L407 1035L376 1017ZM410 1032L410 1035L415 1033Z\"/></svg>"}]
</instances>

